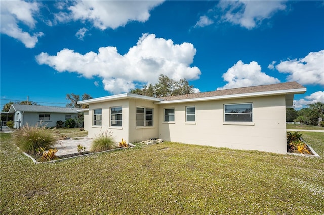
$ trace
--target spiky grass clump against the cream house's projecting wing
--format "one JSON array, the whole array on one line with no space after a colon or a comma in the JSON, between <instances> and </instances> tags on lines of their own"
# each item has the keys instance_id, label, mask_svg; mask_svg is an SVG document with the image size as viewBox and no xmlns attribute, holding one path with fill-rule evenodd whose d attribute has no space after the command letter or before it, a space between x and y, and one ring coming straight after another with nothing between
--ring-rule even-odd
<instances>
[{"instance_id":1,"label":"spiky grass clump against the cream house's projecting wing","mask_svg":"<svg viewBox=\"0 0 324 215\"><path fill-rule=\"evenodd\" d=\"M115 147L116 143L112 136L112 132L106 130L100 133L99 136L92 141L91 152L106 151Z\"/></svg>"}]
</instances>

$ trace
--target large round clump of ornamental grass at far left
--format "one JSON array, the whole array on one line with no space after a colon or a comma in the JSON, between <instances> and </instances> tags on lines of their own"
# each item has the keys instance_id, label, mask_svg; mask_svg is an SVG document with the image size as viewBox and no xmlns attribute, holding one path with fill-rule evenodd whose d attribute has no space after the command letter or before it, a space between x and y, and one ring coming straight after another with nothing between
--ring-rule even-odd
<instances>
[{"instance_id":1,"label":"large round clump of ornamental grass at far left","mask_svg":"<svg viewBox=\"0 0 324 215\"><path fill-rule=\"evenodd\" d=\"M28 124L13 133L17 146L28 154L35 154L40 148L53 148L58 140L53 129L45 126L29 126Z\"/></svg>"}]
</instances>

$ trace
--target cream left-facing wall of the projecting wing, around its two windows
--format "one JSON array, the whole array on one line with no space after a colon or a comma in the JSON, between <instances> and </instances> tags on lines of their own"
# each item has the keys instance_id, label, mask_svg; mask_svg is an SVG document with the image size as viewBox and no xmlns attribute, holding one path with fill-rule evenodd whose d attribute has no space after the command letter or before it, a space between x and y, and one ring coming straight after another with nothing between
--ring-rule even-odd
<instances>
[{"instance_id":1,"label":"cream left-facing wall of the projecting wing, around its two windows","mask_svg":"<svg viewBox=\"0 0 324 215\"><path fill-rule=\"evenodd\" d=\"M122 108L122 126L110 126L110 108L121 106ZM102 110L102 121L101 126L93 125L93 110L100 109ZM125 139L126 142L129 142L129 101L116 100L102 103L89 104L89 116L87 121L85 121L85 127L88 128L88 136L90 138L96 138L98 134L105 131L113 132L112 136L115 138L116 142L119 142L121 138ZM88 124L88 125L87 125Z\"/></svg>"}]
</instances>

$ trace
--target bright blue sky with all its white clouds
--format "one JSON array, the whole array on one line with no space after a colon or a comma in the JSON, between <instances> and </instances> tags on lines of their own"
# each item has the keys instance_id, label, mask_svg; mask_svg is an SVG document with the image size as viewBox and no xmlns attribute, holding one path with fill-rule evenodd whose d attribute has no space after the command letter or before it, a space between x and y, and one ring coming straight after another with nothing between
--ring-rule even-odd
<instances>
[{"instance_id":1,"label":"bright blue sky with all its white clouds","mask_svg":"<svg viewBox=\"0 0 324 215\"><path fill-rule=\"evenodd\" d=\"M197 92L287 81L324 102L323 1L0 1L1 107L65 106L159 74Z\"/></svg>"}]
</instances>

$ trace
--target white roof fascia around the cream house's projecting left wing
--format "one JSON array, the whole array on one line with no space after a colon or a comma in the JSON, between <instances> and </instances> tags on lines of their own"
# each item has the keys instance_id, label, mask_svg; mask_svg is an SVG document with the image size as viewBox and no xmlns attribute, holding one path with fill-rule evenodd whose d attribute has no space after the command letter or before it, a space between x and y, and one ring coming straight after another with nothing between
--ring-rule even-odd
<instances>
[{"instance_id":1,"label":"white roof fascia around the cream house's projecting left wing","mask_svg":"<svg viewBox=\"0 0 324 215\"><path fill-rule=\"evenodd\" d=\"M118 94L118 95L110 95L110 96L105 96L105 97L100 97L100 98L93 98L93 99L89 99L89 100L78 101L77 103L78 104L90 104L90 103L99 103L99 102L104 102L104 101L120 100L120 99L125 99L125 98L136 98L136 99L144 99L144 100L149 100L149 101L161 101L160 98L154 98L154 97L131 94L131 93L123 93L123 94Z\"/></svg>"}]
</instances>

